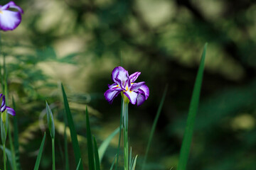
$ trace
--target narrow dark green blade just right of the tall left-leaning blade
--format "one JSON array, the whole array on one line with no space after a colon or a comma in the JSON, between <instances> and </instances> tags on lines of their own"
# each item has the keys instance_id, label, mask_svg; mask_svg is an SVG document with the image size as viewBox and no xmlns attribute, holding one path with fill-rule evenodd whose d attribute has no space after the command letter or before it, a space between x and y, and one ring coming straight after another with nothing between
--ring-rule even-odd
<instances>
[{"instance_id":1,"label":"narrow dark green blade just right of the tall left-leaning blade","mask_svg":"<svg viewBox=\"0 0 256 170\"><path fill-rule=\"evenodd\" d=\"M94 153L93 153L93 145L92 145L92 133L90 131L90 120L87 112L87 107L85 111L85 116L86 116L86 132L87 132L88 165L90 170L95 170Z\"/></svg>"}]
</instances>

